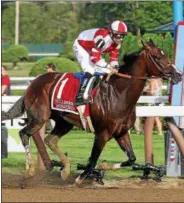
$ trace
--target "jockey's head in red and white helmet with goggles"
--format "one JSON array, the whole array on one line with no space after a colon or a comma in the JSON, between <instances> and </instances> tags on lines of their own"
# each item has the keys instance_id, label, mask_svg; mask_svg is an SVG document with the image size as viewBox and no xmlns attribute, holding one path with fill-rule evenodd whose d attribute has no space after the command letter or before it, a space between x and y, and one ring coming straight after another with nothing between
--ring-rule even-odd
<instances>
[{"instance_id":1,"label":"jockey's head in red and white helmet with goggles","mask_svg":"<svg viewBox=\"0 0 184 203\"><path fill-rule=\"evenodd\" d=\"M127 26L123 21L115 20L110 24L110 33L115 42L120 43L127 35Z\"/></svg>"}]
</instances>

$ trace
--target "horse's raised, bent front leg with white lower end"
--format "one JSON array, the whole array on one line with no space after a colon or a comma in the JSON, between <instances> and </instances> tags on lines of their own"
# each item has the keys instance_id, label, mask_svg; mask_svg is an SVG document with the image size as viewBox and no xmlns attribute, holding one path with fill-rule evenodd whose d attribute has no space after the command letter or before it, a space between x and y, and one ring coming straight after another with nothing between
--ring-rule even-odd
<instances>
[{"instance_id":1,"label":"horse's raised, bent front leg with white lower end","mask_svg":"<svg viewBox=\"0 0 184 203\"><path fill-rule=\"evenodd\" d=\"M126 134L122 134L122 135L119 135L118 137L115 137L115 140L119 144L120 148L128 156L128 160L121 162L120 164L113 165L113 169L116 170L124 166L133 165L136 161L136 157L132 148L129 132L127 131Z\"/></svg>"}]
</instances>

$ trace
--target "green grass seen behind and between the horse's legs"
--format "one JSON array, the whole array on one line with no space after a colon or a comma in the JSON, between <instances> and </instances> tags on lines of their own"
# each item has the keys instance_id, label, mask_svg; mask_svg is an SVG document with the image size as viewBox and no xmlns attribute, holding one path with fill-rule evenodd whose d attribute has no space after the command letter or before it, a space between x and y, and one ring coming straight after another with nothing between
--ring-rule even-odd
<instances>
[{"instance_id":1,"label":"green grass seen behind and between the horse's legs","mask_svg":"<svg viewBox=\"0 0 184 203\"><path fill-rule=\"evenodd\" d=\"M18 130L11 129L9 133L14 136L18 136ZM71 171L76 172L77 163L86 164L91 153L93 144L93 134L86 133L80 130L73 130L66 136L59 140L59 147L64 152L68 153L69 160L71 161ZM154 133L154 161L156 165L164 164L164 138ZM136 163L144 164L144 137L143 135L131 134L132 145L137 157ZM58 160L57 156L47 148L51 159ZM32 152L35 160L37 159L37 149L32 142ZM107 160L109 164L120 163L126 161L127 156L121 151L115 140L111 140L105 146L99 162ZM25 154L24 153L9 153L7 159L2 160L3 168L2 172L22 173L25 166ZM59 170L59 169L55 169ZM134 175L141 175L142 172L132 171L130 167L119 171L106 172L106 178L122 178Z\"/></svg>"}]
</instances>

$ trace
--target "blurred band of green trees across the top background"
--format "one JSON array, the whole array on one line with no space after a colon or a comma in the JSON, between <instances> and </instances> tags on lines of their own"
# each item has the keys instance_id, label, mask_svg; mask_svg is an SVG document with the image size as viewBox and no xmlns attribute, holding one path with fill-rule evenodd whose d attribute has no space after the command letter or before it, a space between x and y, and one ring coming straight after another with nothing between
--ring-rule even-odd
<instances>
[{"instance_id":1,"label":"blurred band of green trees across the top background","mask_svg":"<svg viewBox=\"0 0 184 203\"><path fill-rule=\"evenodd\" d=\"M121 3L20 2L20 43L72 44L86 29L108 26L115 19L128 24L129 32L151 29L172 21L172 2ZM2 36L14 43L15 3L3 7Z\"/></svg>"}]
</instances>

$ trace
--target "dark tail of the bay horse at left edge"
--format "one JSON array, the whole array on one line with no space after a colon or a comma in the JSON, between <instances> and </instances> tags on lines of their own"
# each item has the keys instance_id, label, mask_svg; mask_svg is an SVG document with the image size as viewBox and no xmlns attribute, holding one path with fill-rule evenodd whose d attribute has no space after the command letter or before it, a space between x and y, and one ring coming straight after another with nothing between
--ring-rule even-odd
<instances>
[{"instance_id":1,"label":"dark tail of the bay horse at left edge","mask_svg":"<svg viewBox=\"0 0 184 203\"><path fill-rule=\"evenodd\" d=\"M9 120L22 116L25 111L24 97L21 97L7 112L2 111L1 119Z\"/></svg>"}]
</instances>

